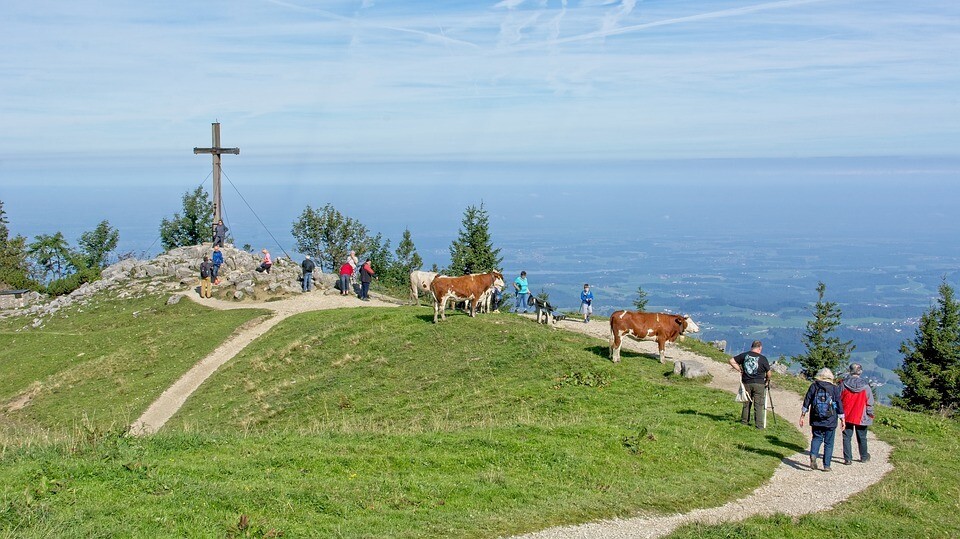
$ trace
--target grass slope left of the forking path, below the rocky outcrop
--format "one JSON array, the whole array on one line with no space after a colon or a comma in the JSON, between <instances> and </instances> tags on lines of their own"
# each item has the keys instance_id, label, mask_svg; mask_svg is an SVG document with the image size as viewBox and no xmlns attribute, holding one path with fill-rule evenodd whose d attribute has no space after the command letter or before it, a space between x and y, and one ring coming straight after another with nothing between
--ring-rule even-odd
<instances>
[{"instance_id":1,"label":"grass slope left of the forking path, below the rocky outcrop","mask_svg":"<svg viewBox=\"0 0 960 539\"><path fill-rule=\"evenodd\" d=\"M27 406L0 415L0 443L16 443L5 434L11 429L56 436L128 424L238 326L266 313L165 299L100 300L39 329L30 318L0 320L0 402L30 394Z\"/></svg>"}]
</instances>

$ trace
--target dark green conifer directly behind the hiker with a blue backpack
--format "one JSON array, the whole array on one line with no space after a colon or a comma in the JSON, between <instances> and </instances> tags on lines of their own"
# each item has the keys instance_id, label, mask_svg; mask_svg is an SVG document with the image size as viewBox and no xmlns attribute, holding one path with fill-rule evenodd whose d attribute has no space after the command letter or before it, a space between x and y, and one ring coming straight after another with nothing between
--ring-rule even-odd
<instances>
[{"instance_id":1,"label":"dark green conifer directly behind the hiker with a blue backpack","mask_svg":"<svg viewBox=\"0 0 960 539\"><path fill-rule=\"evenodd\" d=\"M807 352L791 358L800 364L801 372L808 378L813 378L822 368L838 372L850 362L850 353L856 349L853 341L841 341L831 336L840 327L842 311L835 302L823 300L826 290L827 285L822 282L817 284L818 297L813 308L813 320L807 322L807 330L803 332L803 344Z\"/></svg>"}]
</instances>

